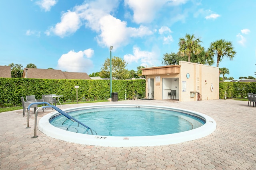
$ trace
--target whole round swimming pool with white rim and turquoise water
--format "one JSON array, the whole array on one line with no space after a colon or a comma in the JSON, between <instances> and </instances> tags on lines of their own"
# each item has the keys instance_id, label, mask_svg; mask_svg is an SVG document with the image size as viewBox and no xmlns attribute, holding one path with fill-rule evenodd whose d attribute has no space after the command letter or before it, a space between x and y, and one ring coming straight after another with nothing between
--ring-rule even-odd
<instances>
[{"instance_id":1,"label":"whole round swimming pool with white rim and turquoise water","mask_svg":"<svg viewBox=\"0 0 256 170\"><path fill-rule=\"evenodd\" d=\"M56 111L42 117L38 129L64 141L109 147L169 145L205 137L216 129L211 117L173 107L101 105L64 111L91 131Z\"/></svg>"}]
</instances>

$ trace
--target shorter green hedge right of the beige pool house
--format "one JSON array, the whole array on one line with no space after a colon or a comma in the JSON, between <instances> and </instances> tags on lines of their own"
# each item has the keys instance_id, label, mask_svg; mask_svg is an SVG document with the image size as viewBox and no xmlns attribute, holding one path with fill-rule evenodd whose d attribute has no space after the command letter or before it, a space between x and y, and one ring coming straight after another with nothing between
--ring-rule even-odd
<instances>
[{"instance_id":1,"label":"shorter green hedge right of the beige pool house","mask_svg":"<svg viewBox=\"0 0 256 170\"><path fill-rule=\"evenodd\" d=\"M256 82L220 82L220 99L245 98L247 93L256 93Z\"/></svg>"}]
</instances>

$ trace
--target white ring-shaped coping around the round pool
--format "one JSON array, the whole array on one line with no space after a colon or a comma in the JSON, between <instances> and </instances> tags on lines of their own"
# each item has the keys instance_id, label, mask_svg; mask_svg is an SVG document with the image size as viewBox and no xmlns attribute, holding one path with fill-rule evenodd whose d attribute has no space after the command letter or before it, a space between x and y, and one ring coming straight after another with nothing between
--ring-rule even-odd
<instances>
[{"instance_id":1,"label":"white ring-shaped coping around the round pool","mask_svg":"<svg viewBox=\"0 0 256 170\"><path fill-rule=\"evenodd\" d=\"M71 111L74 109L81 108L93 108L93 107L132 107L136 105L99 105L99 106L84 106L84 107L73 107L68 109L63 109L63 111ZM139 105L141 107L153 107L153 108L168 108L177 111L190 113L196 115L206 120L206 123L201 127L192 129L190 131L185 131L181 133L173 133L168 135L156 135L156 136L142 136L142 137L110 137L110 136L95 136L86 135L81 133L74 133L70 131L65 131L58 127L54 127L50 124L49 119L54 115L58 114L57 111L49 113L43 116L38 123L38 129L46 134L47 136L53 137L55 139L60 139L67 142L84 144L84 145L94 145L102 147L150 147L150 146L160 146L160 145L171 145L176 143L182 143L186 141L192 141L195 139L200 139L206 137L216 130L216 122L214 119L199 113L196 111L180 109L175 107L165 107L165 106L147 106Z\"/></svg>"}]
</instances>

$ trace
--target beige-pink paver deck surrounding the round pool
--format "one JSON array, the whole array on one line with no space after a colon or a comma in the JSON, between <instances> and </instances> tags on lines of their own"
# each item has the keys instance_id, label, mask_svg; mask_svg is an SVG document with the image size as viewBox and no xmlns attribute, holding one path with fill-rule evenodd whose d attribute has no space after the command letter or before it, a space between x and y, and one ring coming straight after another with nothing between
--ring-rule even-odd
<instances>
[{"instance_id":1,"label":"beige-pink paver deck surrounding the round pool","mask_svg":"<svg viewBox=\"0 0 256 170\"><path fill-rule=\"evenodd\" d=\"M256 169L256 107L246 101L130 100L68 107L136 104L170 106L198 111L212 117L217 129L194 141L156 147L98 147L69 143L37 131L34 115L30 129L22 110L0 113L0 170L254 170ZM38 112L38 119L46 113ZM33 112L33 110L31 110Z\"/></svg>"}]
</instances>

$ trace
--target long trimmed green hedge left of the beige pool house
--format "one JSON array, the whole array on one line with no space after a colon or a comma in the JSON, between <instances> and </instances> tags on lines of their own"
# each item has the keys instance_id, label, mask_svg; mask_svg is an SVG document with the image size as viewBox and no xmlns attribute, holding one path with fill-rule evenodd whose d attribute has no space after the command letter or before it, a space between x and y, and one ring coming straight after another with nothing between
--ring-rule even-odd
<instances>
[{"instance_id":1,"label":"long trimmed green hedge left of the beige pool house","mask_svg":"<svg viewBox=\"0 0 256 170\"><path fill-rule=\"evenodd\" d=\"M42 94L63 95L61 100L104 100L110 98L110 80L67 80L35 78L0 78L0 107L5 104L20 106L20 97L35 95L42 99ZM112 80L112 92L118 92L118 99L144 98L146 80Z\"/></svg>"}]
</instances>

